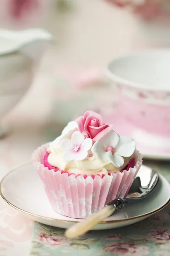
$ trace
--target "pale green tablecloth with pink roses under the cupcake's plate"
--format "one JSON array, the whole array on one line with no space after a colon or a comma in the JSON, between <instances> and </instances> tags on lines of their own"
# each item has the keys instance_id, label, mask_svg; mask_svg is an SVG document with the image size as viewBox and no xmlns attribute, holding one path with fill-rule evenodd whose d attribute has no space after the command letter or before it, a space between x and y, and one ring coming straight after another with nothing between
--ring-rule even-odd
<instances>
[{"instance_id":1,"label":"pale green tablecloth with pink roses under the cupcake's plate","mask_svg":"<svg viewBox=\"0 0 170 256\"><path fill-rule=\"evenodd\" d=\"M169 162L150 162L170 180ZM139 223L113 230L91 231L69 240L65 230L34 222L31 256L169 256L170 205Z\"/></svg>"}]
</instances>

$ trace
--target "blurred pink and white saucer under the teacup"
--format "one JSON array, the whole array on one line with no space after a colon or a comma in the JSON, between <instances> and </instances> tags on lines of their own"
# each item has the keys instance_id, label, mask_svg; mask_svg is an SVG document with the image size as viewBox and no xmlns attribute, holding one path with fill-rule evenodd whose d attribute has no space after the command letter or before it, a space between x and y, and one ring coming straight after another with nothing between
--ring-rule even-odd
<instances>
[{"instance_id":1,"label":"blurred pink and white saucer under the teacup","mask_svg":"<svg viewBox=\"0 0 170 256\"><path fill-rule=\"evenodd\" d=\"M137 149L148 159L170 160L170 137L161 137L140 130L118 114L105 116L105 122L114 124L119 135L130 136L137 143Z\"/></svg>"}]
</instances>

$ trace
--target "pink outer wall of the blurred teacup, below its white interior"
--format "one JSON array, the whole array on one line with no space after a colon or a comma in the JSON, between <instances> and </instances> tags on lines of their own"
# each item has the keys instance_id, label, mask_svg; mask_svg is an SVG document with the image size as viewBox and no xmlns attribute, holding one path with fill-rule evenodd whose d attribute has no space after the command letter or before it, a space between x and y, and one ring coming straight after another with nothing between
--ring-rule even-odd
<instances>
[{"instance_id":1,"label":"pink outer wall of the blurred teacup, below its white interior","mask_svg":"<svg viewBox=\"0 0 170 256\"><path fill-rule=\"evenodd\" d=\"M119 116L145 131L170 136L170 106L151 104L145 102L144 98L137 100L122 94L117 97L121 102L116 109Z\"/></svg>"}]
</instances>

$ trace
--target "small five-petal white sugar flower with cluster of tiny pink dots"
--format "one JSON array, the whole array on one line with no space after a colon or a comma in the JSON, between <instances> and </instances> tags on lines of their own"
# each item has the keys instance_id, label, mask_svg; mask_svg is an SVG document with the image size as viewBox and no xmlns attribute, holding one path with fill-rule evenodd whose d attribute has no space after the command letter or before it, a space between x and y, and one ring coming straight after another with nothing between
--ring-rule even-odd
<instances>
[{"instance_id":1,"label":"small five-petal white sugar flower with cluster of tiny pink dots","mask_svg":"<svg viewBox=\"0 0 170 256\"><path fill-rule=\"evenodd\" d=\"M85 139L79 131L75 131L71 139L62 139L59 145L64 151L62 157L65 161L81 161L88 156L88 150L91 149L93 142L90 138Z\"/></svg>"}]
</instances>

